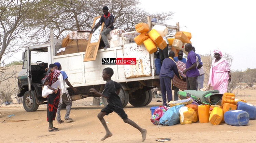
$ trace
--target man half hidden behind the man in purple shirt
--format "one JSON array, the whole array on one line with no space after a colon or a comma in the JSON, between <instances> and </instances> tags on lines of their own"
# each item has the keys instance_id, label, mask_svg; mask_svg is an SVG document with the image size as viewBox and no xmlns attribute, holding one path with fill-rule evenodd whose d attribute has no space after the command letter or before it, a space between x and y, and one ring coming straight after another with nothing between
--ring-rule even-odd
<instances>
[{"instance_id":1,"label":"man half hidden behind the man in purple shirt","mask_svg":"<svg viewBox=\"0 0 256 143\"><path fill-rule=\"evenodd\" d=\"M196 52L195 47L192 47L192 50L193 50L194 52ZM203 70L203 62L202 62L202 60L201 60L200 55L198 55L198 54L196 53L196 56L197 56L197 69L198 69L199 74L200 74L200 75L197 77L196 88L197 88L198 90L200 90L201 88L203 88L204 70Z\"/></svg>"}]
</instances>

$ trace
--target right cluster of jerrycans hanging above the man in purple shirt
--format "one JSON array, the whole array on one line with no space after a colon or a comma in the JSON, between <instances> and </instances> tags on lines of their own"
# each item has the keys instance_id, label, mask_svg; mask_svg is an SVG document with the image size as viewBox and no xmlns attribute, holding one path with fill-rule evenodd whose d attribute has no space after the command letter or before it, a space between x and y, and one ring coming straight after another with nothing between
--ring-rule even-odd
<instances>
[{"instance_id":1,"label":"right cluster of jerrycans hanging above the man in purple shirt","mask_svg":"<svg viewBox=\"0 0 256 143\"><path fill-rule=\"evenodd\" d=\"M184 32L179 31L175 33L174 38L167 38L169 45L172 45L172 51L175 53L175 55L182 50L186 55L188 52L185 51L185 44L191 43L191 33L190 32Z\"/></svg>"}]
</instances>

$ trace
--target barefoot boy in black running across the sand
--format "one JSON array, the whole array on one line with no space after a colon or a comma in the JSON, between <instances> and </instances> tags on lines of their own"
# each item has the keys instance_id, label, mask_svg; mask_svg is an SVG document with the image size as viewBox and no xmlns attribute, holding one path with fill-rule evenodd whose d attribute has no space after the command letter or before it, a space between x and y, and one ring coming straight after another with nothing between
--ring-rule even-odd
<instances>
[{"instance_id":1,"label":"barefoot boy in black running across the sand","mask_svg":"<svg viewBox=\"0 0 256 143\"><path fill-rule=\"evenodd\" d=\"M122 102L118 96L120 89L121 89L121 84L119 84L117 82L113 82L111 80L111 76L113 74L114 74L114 71L111 68L105 68L102 71L102 78L104 81L106 81L105 88L102 93L98 92L94 88L90 89L90 92L94 92L95 94L97 94L99 96L107 98L108 99L107 101L109 103L98 114L98 118L106 130L106 135L101 140L103 141L106 138L109 138L112 136L112 133L109 131L108 126L106 125L106 122L103 117L114 111L124 120L125 123L130 124L134 128L138 129L141 132L142 141L144 141L146 139L147 130L142 129L140 126L138 126L132 120L128 119L127 114L125 113L125 111L122 107Z\"/></svg>"}]
</instances>

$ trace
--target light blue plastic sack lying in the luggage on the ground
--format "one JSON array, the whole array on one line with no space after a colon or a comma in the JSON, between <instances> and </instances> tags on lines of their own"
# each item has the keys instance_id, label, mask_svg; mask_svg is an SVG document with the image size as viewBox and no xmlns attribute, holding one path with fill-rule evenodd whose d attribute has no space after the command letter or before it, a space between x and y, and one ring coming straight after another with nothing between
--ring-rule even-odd
<instances>
[{"instance_id":1,"label":"light blue plastic sack lying in the luggage on the ground","mask_svg":"<svg viewBox=\"0 0 256 143\"><path fill-rule=\"evenodd\" d=\"M165 112L165 114L163 114L159 122L165 126L171 126L180 123L179 110L182 107L184 107L184 104L171 107Z\"/></svg>"}]
</instances>

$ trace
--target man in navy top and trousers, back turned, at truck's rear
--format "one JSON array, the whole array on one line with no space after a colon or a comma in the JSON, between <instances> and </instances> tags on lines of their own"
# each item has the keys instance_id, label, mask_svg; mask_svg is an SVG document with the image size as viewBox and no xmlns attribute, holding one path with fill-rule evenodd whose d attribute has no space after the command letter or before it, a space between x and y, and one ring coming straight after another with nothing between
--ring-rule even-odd
<instances>
[{"instance_id":1,"label":"man in navy top and trousers, back turned, at truck's rear","mask_svg":"<svg viewBox=\"0 0 256 143\"><path fill-rule=\"evenodd\" d=\"M166 93L168 103L172 101L172 78L174 74L177 75L180 79L183 77L180 75L177 68L176 62L173 60L174 52L169 52L169 58L163 60L161 70L160 70L160 87L162 93L163 106L168 106L166 103ZM183 79L184 80L184 79Z\"/></svg>"}]
</instances>

